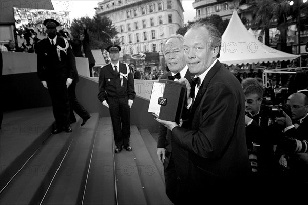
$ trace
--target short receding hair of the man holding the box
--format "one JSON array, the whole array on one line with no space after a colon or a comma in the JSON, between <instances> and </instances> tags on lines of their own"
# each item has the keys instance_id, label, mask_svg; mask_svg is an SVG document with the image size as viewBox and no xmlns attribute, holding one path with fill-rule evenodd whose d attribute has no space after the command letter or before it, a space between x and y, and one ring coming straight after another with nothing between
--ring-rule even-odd
<instances>
[{"instance_id":1,"label":"short receding hair of the man holding the box","mask_svg":"<svg viewBox=\"0 0 308 205\"><path fill-rule=\"evenodd\" d=\"M221 33L220 31L217 29L217 27L209 22L196 22L194 24L192 24L188 30L191 29L198 29L198 28L205 28L206 30L208 30L209 33L209 39L210 39L210 48L216 48L218 47L218 54L217 54L217 58L220 57L220 48L221 48Z\"/></svg>"}]
</instances>

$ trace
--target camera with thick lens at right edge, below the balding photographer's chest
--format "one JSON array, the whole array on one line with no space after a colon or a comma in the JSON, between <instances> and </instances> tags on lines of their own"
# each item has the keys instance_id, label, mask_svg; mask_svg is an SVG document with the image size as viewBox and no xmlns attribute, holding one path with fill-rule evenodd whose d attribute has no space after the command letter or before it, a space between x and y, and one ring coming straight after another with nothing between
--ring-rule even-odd
<instances>
[{"instance_id":1,"label":"camera with thick lens at right edge, below the balding photographer's chest","mask_svg":"<svg viewBox=\"0 0 308 205\"><path fill-rule=\"evenodd\" d=\"M282 141L282 148L284 148L287 152L307 153L308 142L306 140L300 141L292 137L284 137Z\"/></svg>"}]
</instances>

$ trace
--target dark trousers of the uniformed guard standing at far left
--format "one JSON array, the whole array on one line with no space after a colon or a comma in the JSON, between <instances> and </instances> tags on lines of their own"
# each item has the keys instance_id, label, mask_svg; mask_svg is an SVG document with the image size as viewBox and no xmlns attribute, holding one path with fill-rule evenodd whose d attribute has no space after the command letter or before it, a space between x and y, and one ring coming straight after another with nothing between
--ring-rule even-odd
<instances>
[{"instance_id":1,"label":"dark trousers of the uniformed guard standing at far left","mask_svg":"<svg viewBox=\"0 0 308 205\"><path fill-rule=\"evenodd\" d=\"M49 95L52 102L52 111L56 122L56 127L70 126L70 102L66 79L49 80L47 82Z\"/></svg>"}]
</instances>

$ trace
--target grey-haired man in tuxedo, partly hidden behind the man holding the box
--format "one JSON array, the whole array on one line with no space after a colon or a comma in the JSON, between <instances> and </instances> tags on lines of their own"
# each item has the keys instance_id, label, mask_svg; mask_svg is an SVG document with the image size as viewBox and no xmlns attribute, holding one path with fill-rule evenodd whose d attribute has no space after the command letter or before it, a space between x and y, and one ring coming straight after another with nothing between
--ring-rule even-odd
<instances>
[{"instance_id":1,"label":"grey-haired man in tuxedo, partly hidden behind the man holding the box","mask_svg":"<svg viewBox=\"0 0 308 205\"><path fill-rule=\"evenodd\" d=\"M186 78L189 82L191 81L191 76L193 75L189 72L188 66L186 65L183 40L183 36L180 34L171 35L165 40L164 58L170 71L165 73L161 79L175 80ZM188 154L187 152L182 151L181 154L184 156L186 155L182 158L182 160L178 160L180 159L179 157L172 159L171 138L171 131L168 130L163 124L160 124L157 142L157 156L159 161L164 165L166 194L174 204L179 204L181 202L181 196L179 194L180 190L185 188L183 187L185 184L185 179L181 174L184 170L180 169L182 166L179 166L179 164L183 164L185 161L188 162ZM186 168L188 168L188 163Z\"/></svg>"}]
</instances>

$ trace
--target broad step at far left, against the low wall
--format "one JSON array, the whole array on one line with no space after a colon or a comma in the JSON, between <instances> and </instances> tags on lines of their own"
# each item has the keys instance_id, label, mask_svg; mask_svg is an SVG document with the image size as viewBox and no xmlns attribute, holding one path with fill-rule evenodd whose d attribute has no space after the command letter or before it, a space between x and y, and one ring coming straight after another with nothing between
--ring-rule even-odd
<instances>
[{"instance_id":1,"label":"broad step at far left, against the low wall","mask_svg":"<svg viewBox=\"0 0 308 205\"><path fill-rule=\"evenodd\" d=\"M0 130L0 192L50 136L52 107L9 111Z\"/></svg>"}]
</instances>

